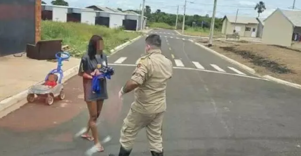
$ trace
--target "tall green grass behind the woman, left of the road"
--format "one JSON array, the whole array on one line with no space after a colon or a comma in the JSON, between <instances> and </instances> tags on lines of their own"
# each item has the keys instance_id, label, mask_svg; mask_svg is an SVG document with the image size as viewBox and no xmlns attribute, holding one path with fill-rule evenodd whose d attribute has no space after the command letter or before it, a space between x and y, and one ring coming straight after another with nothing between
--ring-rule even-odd
<instances>
[{"instance_id":1,"label":"tall green grass behind the woman, left of the road","mask_svg":"<svg viewBox=\"0 0 301 156\"><path fill-rule=\"evenodd\" d=\"M104 52L110 54L110 50L141 35L140 32L125 32L121 28L110 29L105 26L88 25L75 22L42 21L42 40L62 39L64 45L72 48L73 56L82 56L87 50L89 39L97 34L103 37Z\"/></svg>"}]
</instances>

